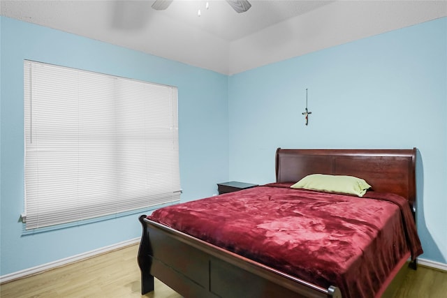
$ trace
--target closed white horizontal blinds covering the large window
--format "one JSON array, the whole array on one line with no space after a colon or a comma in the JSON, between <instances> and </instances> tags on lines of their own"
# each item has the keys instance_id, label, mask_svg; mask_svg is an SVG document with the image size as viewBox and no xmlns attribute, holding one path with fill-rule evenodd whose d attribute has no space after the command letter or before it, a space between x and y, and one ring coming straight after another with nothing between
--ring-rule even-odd
<instances>
[{"instance_id":1,"label":"closed white horizontal blinds covering the large window","mask_svg":"<svg viewBox=\"0 0 447 298\"><path fill-rule=\"evenodd\" d=\"M177 88L24 61L26 228L179 201Z\"/></svg>"}]
</instances>

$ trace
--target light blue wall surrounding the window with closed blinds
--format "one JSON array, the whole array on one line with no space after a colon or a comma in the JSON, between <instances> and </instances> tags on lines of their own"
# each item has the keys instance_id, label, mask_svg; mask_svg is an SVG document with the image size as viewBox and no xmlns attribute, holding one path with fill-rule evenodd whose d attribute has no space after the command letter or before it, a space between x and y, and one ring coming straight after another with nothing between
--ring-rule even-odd
<instances>
[{"instance_id":1,"label":"light blue wall surrounding the window with closed blinds","mask_svg":"<svg viewBox=\"0 0 447 298\"><path fill-rule=\"evenodd\" d=\"M182 200L228 179L228 77L70 33L1 17L0 276L139 237L138 215L24 235L23 60L31 59L179 89Z\"/></svg>"}]
</instances>

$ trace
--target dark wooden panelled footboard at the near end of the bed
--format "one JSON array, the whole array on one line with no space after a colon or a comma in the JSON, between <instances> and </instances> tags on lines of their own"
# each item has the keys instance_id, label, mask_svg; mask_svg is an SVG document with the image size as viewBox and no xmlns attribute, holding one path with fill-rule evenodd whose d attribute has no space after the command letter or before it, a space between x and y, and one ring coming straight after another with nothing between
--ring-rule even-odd
<instances>
[{"instance_id":1,"label":"dark wooden panelled footboard at the near end of the bed","mask_svg":"<svg viewBox=\"0 0 447 298\"><path fill-rule=\"evenodd\" d=\"M342 297L339 288L318 287L149 221L144 215L139 219L142 294L154 290L156 276L184 297Z\"/></svg>"}]
</instances>

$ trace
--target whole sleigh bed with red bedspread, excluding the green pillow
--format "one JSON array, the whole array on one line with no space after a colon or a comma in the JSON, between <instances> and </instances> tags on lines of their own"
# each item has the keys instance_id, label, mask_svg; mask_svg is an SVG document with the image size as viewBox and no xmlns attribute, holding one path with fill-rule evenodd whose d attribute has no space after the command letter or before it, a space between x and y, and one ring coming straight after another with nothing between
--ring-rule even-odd
<instances>
[{"instance_id":1,"label":"whole sleigh bed with red bedspread, excluding the green pillow","mask_svg":"<svg viewBox=\"0 0 447 298\"><path fill-rule=\"evenodd\" d=\"M142 294L155 276L184 297L381 297L423 253L415 167L416 149L277 149L272 184L140 216ZM371 188L290 187L311 174Z\"/></svg>"}]
</instances>

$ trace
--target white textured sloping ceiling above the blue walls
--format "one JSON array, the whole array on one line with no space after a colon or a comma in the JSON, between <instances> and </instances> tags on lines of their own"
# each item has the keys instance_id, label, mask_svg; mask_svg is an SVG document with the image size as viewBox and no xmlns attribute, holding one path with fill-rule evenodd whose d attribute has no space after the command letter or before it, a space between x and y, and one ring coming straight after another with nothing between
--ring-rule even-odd
<instances>
[{"instance_id":1,"label":"white textured sloping ceiling above the blue walls","mask_svg":"<svg viewBox=\"0 0 447 298\"><path fill-rule=\"evenodd\" d=\"M1 0L0 13L228 75L447 16L447 1L249 1Z\"/></svg>"}]
</instances>

